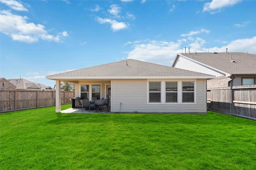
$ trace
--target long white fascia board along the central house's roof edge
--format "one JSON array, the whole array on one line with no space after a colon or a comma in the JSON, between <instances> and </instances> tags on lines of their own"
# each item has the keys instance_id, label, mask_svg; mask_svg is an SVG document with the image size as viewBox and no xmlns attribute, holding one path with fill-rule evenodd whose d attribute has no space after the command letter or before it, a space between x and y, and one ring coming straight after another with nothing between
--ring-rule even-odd
<instances>
[{"instance_id":1,"label":"long white fascia board along the central house's roof edge","mask_svg":"<svg viewBox=\"0 0 256 170\"><path fill-rule=\"evenodd\" d=\"M215 78L215 76L205 75L205 76L108 76L108 77L100 77L100 76L47 76L47 79L51 80L78 80L78 79L211 79Z\"/></svg>"}]
</instances>

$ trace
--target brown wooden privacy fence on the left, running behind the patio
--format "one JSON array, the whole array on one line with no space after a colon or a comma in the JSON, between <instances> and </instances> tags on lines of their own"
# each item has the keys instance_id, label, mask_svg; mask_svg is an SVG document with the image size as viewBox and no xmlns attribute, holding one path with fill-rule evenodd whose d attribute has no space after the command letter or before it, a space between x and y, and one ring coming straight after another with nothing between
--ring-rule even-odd
<instances>
[{"instance_id":1,"label":"brown wooden privacy fence on the left, running behind the patio","mask_svg":"<svg viewBox=\"0 0 256 170\"><path fill-rule=\"evenodd\" d=\"M61 92L61 104L70 104L75 92ZM17 111L56 105L55 91L4 90L0 91L0 112Z\"/></svg>"}]
</instances>

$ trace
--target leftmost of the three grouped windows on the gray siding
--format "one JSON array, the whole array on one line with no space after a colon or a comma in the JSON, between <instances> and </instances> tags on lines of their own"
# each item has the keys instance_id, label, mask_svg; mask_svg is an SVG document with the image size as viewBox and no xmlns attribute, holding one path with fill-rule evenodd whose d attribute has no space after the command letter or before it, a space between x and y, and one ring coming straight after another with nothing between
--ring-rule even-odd
<instances>
[{"instance_id":1,"label":"leftmost of the three grouped windows on the gray siding","mask_svg":"<svg viewBox=\"0 0 256 170\"><path fill-rule=\"evenodd\" d=\"M161 102L161 82L149 82L149 102Z\"/></svg>"}]
</instances>

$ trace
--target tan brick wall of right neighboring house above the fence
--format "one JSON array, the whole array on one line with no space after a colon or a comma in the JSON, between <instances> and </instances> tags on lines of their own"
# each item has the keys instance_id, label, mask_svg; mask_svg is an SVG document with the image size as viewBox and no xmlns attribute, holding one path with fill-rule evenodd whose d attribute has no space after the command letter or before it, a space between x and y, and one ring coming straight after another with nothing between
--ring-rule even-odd
<instances>
[{"instance_id":1,"label":"tan brick wall of right neighboring house above the fence","mask_svg":"<svg viewBox=\"0 0 256 170\"><path fill-rule=\"evenodd\" d=\"M207 89L228 87L228 82L231 78L226 76L219 76L214 79L207 80Z\"/></svg>"}]
</instances>

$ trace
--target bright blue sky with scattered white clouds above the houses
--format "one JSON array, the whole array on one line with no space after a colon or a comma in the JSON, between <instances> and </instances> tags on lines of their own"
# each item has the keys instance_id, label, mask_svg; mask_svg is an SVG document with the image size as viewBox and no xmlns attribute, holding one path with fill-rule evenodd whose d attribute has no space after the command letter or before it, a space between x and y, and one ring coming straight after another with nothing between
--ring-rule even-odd
<instances>
[{"instance_id":1,"label":"bright blue sky with scattered white clouds above the houses","mask_svg":"<svg viewBox=\"0 0 256 170\"><path fill-rule=\"evenodd\" d=\"M255 0L0 0L0 76L46 76L177 53L256 54Z\"/></svg>"}]
</instances>

